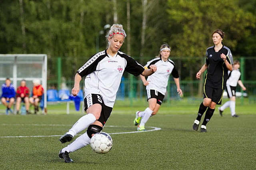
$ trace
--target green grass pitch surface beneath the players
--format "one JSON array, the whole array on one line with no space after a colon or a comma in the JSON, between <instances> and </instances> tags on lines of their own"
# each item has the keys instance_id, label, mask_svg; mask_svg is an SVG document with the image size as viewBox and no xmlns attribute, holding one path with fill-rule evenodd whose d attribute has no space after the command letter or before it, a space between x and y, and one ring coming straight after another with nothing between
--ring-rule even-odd
<instances>
[{"instance_id":1,"label":"green grass pitch surface beneath the players","mask_svg":"<svg viewBox=\"0 0 256 170\"><path fill-rule=\"evenodd\" d=\"M254 105L238 104L238 118L232 118L229 109L220 117L216 109L208 132L201 133L192 130L200 103L164 104L146 124L152 131L137 133L135 112L147 106L116 104L102 130L112 136L112 150L101 155L86 146L70 153L72 164L58 158L60 149L69 143L61 144L58 139L82 116L80 112L0 115L0 169L256 169ZM48 110L64 112L65 107L49 105Z\"/></svg>"}]
</instances>

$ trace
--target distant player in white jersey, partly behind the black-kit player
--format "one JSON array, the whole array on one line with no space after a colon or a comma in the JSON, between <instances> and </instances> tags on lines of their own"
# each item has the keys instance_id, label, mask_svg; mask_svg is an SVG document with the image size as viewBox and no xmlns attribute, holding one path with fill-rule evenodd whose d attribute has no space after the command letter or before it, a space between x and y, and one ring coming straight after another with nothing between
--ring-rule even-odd
<instances>
[{"instance_id":1,"label":"distant player in white jersey, partly behind the black-kit player","mask_svg":"<svg viewBox=\"0 0 256 170\"><path fill-rule=\"evenodd\" d=\"M236 115L236 86L237 84L242 87L243 90L246 90L246 87L244 87L244 84L241 81L241 73L239 71L240 68L240 62L238 60L234 61L233 70L229 73L229 77L226 83L226 91L228 93L228 98L230 101L227 101L218 108L220 116L222 116L222 112L227 107L230 107L231 116L232 117L239 117Z\"/></svg>"}]
</instances>

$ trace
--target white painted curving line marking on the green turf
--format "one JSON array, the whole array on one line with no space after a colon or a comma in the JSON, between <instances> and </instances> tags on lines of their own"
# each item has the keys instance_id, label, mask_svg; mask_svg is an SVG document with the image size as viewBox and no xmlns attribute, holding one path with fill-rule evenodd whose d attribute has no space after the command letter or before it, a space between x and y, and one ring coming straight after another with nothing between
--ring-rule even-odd
<instances>
[{"instance_id":1,"label":"white painted curving line marking on the green turf","mask_svg":"<svg viewBox=\"0 0 256 170\"><path fill-rule=\"evenodd\" d=\"M14 126L72 126L72 125L54 125L54 124L2 124L4 126L8 125L14 125ZM105 127L120 127L120 126L105 126ZM153 128L151 130L145 130L145 131L132 131L132 132L116 132L116 133L108 133L108 134L128 134L128 133L140 133L140 132L152 132L155 130L161 130L159 127L147 127L147 128ZM82 134L77 134L76 136L80 136ZM40 136L0 136L0 138L30 138L30 137L57 137L62 135L40 135Z\"/></svg>"}]
</instances>

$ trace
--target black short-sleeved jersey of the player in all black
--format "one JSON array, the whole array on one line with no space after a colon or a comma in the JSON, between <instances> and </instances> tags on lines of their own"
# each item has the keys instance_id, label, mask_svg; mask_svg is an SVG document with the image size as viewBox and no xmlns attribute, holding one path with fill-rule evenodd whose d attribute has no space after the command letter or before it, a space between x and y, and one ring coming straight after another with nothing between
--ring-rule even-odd
<instances>
[{"instance_id":1,"label":"black short-sleeved jersey of the player in all black","mask_svg":"<svg viewBox=\"0 0 256 170\"><path fill-rule=\"evenodd\" d=\"M206 65L208 65L207 73L205 75L204 85L216 89L226 89L226 81L228 79L228 68L220 55L224 53L227 61L233 64L233 57L230 49L223 45L223 47L215 52L214 46L206 49Z\"/></svg>"}]
</instances>

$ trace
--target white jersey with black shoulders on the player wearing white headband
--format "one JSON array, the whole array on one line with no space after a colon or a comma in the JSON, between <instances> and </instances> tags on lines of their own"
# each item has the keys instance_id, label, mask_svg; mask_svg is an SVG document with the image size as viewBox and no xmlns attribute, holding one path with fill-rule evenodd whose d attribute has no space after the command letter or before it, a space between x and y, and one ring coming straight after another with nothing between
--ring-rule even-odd
<instances>
[{"instance_id":1,"label":"white jersey with black shoulders on the player wearing white headband","mask_svg":"<svg viewBox=\"0 0 256 170\"><path fill-rule=\"evenodd\" d=\"M174 78L178 78L179 73L175 68L174 62L170 59L163 61L161 57L157 57L148 61L145 67L149 67L152 64L156 65L157 70L154 74L148 76L147 81L150 82L146 86L146 89L156 90L165 95L170 74L172 74Z\"/></svg>"}]
</instances>

